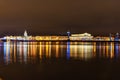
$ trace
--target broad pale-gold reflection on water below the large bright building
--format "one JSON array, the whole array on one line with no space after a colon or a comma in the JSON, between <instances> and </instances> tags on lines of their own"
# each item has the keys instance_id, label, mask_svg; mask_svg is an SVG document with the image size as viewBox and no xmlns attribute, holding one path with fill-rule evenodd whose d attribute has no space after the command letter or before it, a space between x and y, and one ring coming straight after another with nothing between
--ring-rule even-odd
<instances>
[{"instance_id":1,"label":"broad pale-gold reflection on water below the large bright building","mask_svg":"<svg viewBox=\"0 0 120 80\"><path fill-rule=\"evenodd\" d=\"M70 57L79 59L89 59L93 56L93 45L80 43L79 45L70 45Z\"/></svg>"}]
</instances>

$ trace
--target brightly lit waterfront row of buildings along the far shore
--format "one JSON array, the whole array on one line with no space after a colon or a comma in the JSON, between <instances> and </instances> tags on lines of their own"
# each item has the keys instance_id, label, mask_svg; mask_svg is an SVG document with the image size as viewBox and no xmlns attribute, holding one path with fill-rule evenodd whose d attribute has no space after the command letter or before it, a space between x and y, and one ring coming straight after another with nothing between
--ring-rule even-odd
<instances>
[{"instance_id":1,"label":"brightly lit waterfront row of buildings along the far shore","mask_svg":"<svg viewBox=\"0 0 120 80\"><path fill-rule=\"evenodd\" d=\"M30 40L30 41L62 41L62 40L77 40L77 41L119 41L119 37L113 37L113 36L97 36L94 37L89 33L83 33L83 34L71 34L70 32L67 32L66 36L29 36L27 34L27 31L25 30L23 36L5 36L3 38L0 38L1 41L9 41L9 40Z\"/></svg>"}]
</instances>

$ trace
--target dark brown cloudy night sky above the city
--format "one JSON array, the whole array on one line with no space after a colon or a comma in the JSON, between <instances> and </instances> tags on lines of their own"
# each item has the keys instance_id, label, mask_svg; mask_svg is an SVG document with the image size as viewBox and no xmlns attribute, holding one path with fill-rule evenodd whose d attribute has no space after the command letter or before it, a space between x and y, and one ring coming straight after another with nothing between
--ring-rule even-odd
<instances>
[{"instance_id":1,"label":"dark brown cloudy night sky above the city","mask_svg":"<svg viewBox=\"0 0 120 80\"><path fill-rule=\"evenodd\" d=\"M0 0L0 35L120 32L120 0Z\"/></svg>"}]
</instances>

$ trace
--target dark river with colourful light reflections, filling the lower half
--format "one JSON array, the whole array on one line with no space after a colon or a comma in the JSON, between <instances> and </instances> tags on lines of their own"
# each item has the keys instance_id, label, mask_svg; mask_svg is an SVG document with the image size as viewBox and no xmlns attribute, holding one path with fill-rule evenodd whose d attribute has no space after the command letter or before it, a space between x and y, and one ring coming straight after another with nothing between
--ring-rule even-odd
<instances>
[{"instance_id":1,"label":"dark river with colourful light reflections, filling the lower half","mask_svg":"<svg viewBox=\"0 0 120 80\"><path fill-rule=\"evenodd\" d=\"M110 80L119 73L119 43L0 43L0 80Z\"/></svg>"}]
</instances>

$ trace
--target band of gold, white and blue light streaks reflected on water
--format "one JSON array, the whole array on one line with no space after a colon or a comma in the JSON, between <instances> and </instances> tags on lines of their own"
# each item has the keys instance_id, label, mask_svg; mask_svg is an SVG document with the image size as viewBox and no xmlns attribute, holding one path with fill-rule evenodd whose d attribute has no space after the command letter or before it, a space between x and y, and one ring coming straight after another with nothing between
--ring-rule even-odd
<instances>
[{"instance_id":1,"label":"band of gold, white and blue light streaks reflected on water","mask_svg":"<svg viewBox=\"0 0 120 80\"><path fill-rule=\"evenodd\" d=\"M93 58L116 59L120 44L114 42L3 42L0 44L0 63L35 63L43 59Z\"/></svg>"}]
</instances>

